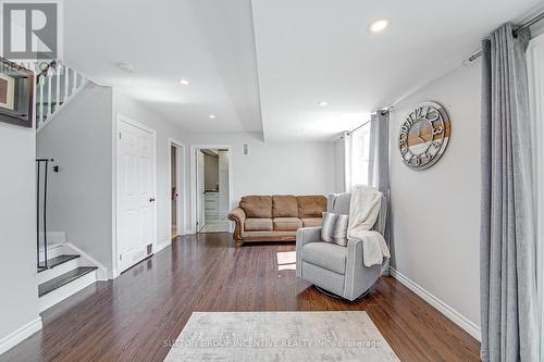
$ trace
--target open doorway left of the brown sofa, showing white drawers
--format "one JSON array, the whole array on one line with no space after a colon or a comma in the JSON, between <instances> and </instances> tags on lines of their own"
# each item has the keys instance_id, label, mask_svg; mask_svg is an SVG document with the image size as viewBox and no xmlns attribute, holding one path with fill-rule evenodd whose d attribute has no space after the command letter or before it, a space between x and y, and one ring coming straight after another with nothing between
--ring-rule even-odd
<instances>
[{"instance_id":1,"label":"open doorway left of the brown sofa, showing white drawers","mask_svg":"<svg viewBox=\"0 0 544 362\"><path fill-rule=\"evenodd\" d=\"M197 233L228 233L231 151L226 147L194 147L194 225Z\"/></svg>"}]
</instances>

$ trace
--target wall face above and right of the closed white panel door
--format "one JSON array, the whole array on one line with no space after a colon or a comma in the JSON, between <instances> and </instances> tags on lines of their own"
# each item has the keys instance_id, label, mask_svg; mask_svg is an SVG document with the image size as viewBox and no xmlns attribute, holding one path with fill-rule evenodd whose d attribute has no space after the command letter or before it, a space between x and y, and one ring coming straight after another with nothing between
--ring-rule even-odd
<instances>
[{"instance_id":1,"label":"wall face above and right of the closed white panel door","mask_svg":"<svg viewBox=\"0 0 544 362\"><path fill-rule=\"evenodd\" d=\"M161 115L141 105L139 102L133 100L129 97L120 93L119 91L113 91L113 117L115 113L121 113L128 118L141 123L150 128L157 130L157 244L162 245L164 242L170 242L170 141L169 138L174 138L178 141L185 142L187 139L187 133L182 128L177 127L171 122L164 120ZM114 121L115 122L115 121ZM185 142L187 147L187 143ZM188 158L188 151L185 151L186 160ZM188 170L188 162L185 162L184 170ZM183 198L188 195L188 177L186 177L186 187L180 192L180 197ZM187 200L188 203L188 200ZM187 219L188 216L186 215ZM186 221L187 223L187 221ZM186 224L187 225L187 224ZM180 227L180 226L178 226ZM183 233L183 230L180 230Z\"/></svg>"}]
</instances>

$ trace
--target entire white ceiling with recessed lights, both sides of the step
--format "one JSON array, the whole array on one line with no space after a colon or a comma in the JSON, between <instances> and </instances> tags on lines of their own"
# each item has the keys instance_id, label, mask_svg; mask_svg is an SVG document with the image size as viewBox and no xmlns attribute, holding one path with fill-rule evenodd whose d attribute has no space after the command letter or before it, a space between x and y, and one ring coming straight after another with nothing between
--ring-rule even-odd
<instances>
[{"instance_id":1,"label":"entire white ceiling with recessed lights, both sides of the step","mask_svg":"<svg viewBox=\"0 0 544 362\"><path fill-rule=\"evenodd\" d=\"M189 132L329 140L458 66L491 30L537 5L541 0L71 0L65 58ZM370 22L382 17L390 26L370 34ZM122 72L122 61L134 73ZM330 105L318 107L320 100Z\"/></svg>"}]
</instances>

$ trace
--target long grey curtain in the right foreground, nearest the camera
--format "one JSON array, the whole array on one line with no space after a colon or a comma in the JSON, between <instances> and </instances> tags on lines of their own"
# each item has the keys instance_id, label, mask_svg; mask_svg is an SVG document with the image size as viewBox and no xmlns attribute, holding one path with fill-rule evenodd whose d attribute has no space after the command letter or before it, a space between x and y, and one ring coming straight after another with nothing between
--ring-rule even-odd
<instances>
[{"instance_id":1,"label":"long grey curtain in the right foreground, nearest the camera","mask_svg":"<svg viewBox=\"0 0 544 362\"><path fill-rule=\"evenodd\" d=\"M506 24L482 45L483 361L539 360L529 38Z\"/></svg>"}]
</instances>

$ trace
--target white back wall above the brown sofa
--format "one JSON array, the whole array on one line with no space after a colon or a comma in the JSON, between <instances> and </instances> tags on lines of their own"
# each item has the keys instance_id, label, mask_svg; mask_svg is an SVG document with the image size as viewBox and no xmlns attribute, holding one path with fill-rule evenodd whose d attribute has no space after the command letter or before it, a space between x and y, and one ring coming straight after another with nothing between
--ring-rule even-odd
<instances>
[{"instance_id":1,"label":"white back wall above the brown sofa","mask_svg":"<svg viewBox=\"0 0 544 362\"><path fill-rule=\"evenodd\" d=\"M333 142L263 142L258 134L193 134L190 143L232 146L233 200L245 195L334 191ZM249 145L249 154L243 145Z\"/></svg>"}]
</instances>

